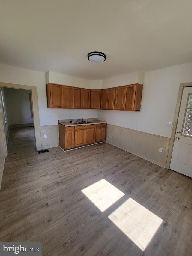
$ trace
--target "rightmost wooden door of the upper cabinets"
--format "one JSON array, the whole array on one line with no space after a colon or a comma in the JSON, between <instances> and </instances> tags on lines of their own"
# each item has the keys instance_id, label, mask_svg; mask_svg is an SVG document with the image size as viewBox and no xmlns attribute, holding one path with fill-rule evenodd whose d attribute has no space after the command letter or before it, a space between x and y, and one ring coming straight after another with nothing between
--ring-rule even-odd
<instances>
[{"instance_id":1,"label":"rightmost wooden door of the upper cabinets","mask_svg":"<svg viewBox=\"0 0 192 256\"><path fill-rule=\"evenodd\" d=\"M125 86L124 110L134 111L136 86L137 84Z\"/></svg>"}]
</instances>

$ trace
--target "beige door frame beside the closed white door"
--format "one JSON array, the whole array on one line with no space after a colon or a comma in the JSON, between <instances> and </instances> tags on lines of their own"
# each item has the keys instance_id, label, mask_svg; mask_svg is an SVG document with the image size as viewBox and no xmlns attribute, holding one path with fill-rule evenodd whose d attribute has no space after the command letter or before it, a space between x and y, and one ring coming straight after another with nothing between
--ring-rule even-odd
<instances>
[{"instance_id":1,"label":"beige door frame beside the closed white door","mask_svg":"<svg viewBox=\"0 0 192 256\"><path fill-rule=\"evenodd\" d=\"M174 142L175 142L176 129L177 129L177 123L178 123L178 118L179 118L179 111L180 111L184 87L192 87L192 83L181 83L179 86L179 94L178 94L178 98L177 98L175 117L174 117L174 121L173 121L173 129L172 129L172 133L171 133L171 140L170 140L170 145L169 145L169 150L168 150L168 155L167 155L167 164L166 164L167 169L170 168L170 164L171 164L173 146L174 146Z\"/></svg>"}]
</instances>

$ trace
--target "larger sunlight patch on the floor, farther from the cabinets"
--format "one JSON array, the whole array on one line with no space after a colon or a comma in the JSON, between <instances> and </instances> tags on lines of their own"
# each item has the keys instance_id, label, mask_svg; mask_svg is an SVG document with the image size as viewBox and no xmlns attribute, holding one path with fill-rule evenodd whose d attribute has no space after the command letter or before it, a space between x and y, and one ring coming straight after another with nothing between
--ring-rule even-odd
<instances>
[{"instance_id":1,"label":"larger sunlight patch on the floor, farther from the cabinets","mask_svg":"<svg viewBox=\"0 0 192 256\"><path fill-rule=\"evenodd\" d=\"M142 251L144 251L163 220L129 198L108 218Z\"/></svg>"}]
</instances>

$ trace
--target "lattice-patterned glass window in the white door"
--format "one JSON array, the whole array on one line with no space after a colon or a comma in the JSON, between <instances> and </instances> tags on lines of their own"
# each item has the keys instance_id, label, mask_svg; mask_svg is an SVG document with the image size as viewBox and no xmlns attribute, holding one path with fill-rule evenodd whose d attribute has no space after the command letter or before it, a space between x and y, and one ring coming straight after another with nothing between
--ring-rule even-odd
<instances>
[{"instance_id":1,"label":"lattice-patterned glass window in the white door","mask_svg":"<svg viewBox=\"0 0 192 256\"><path fill-rule=\"evenodd\" d=\"M192 136L192 94L189 94L186 108L186 114L183 122L183 132L184 136Z\"/></svg>"}]
</instances>

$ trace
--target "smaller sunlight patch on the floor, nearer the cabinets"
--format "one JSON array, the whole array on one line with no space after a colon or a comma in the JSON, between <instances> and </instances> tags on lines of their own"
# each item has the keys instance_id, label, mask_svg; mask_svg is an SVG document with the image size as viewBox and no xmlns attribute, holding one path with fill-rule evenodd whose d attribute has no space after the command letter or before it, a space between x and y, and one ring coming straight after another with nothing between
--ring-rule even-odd
<instances>
[{"instance_id":1,"label":"smaller sunlight patch on the floor, nearer the cabinets","mask_svg":"<svg viewBox=\"0 0 192 256\"><path fill-rule=\"evenodd\" d=\"M84 188L82 192L101 212L104 212L125 195L105 179L101 179L87 188Z\"/></svg>"}]
</instances>

